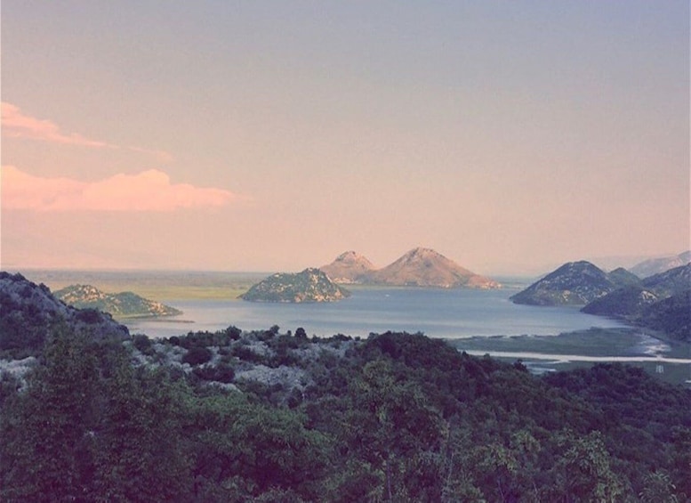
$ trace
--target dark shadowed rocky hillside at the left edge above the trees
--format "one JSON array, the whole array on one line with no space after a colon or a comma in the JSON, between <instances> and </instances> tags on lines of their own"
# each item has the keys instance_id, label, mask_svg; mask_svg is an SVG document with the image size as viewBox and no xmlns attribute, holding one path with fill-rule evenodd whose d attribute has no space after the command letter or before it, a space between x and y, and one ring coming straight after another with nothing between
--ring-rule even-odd
<instances>
[{"instance_id":1,"label":"dark shadowed rocky hillside at the left edge above the trees","mask_svg":"<svg viewBox=\"0 0 691 503\"><path fill-rule=\"evenodd\" d=\"M99 339L130 337L125 325L108 313L68 306L45 285L21 274L0 272L0 351L16 358L40 352L46 334L60 322Z\"/></svg>"}]
</instances>

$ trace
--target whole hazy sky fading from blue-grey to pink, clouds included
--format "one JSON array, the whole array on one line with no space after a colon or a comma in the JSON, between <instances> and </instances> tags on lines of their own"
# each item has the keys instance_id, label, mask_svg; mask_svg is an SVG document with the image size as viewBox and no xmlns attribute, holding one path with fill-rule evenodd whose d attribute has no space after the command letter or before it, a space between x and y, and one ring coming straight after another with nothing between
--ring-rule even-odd
<instances>
[{"instance_id":1,"label":"whole hazy sky fading from blue-grey to pink, clouds included","mask_svg":"<svg viewBox=\"0 0 691 503\"><path fill-rule=\"evenodd\" d=\"M0 267L689 244L689 3L2 3Z\"/></svg>"}]
</instances>

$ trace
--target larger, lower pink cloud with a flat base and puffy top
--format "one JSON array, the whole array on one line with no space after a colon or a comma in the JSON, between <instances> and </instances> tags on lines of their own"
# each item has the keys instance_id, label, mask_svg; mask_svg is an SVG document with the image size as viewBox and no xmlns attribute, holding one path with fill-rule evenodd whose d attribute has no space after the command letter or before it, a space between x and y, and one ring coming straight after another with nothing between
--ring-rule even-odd
<instances>
[{"instance_id":1,"label":"larger, lower pink cloud with a flat base and puffy top","mask_svg":"<svg viewBox=\"0 0 691 503\"><path fill-rule=\"evenodd\" d=\"M43 178L3 166L2 207L34 211L173 211L223 207L241 199L229 191L171 183L162 171L116 174L96 182Z\"/></svg>"}]
</instances>

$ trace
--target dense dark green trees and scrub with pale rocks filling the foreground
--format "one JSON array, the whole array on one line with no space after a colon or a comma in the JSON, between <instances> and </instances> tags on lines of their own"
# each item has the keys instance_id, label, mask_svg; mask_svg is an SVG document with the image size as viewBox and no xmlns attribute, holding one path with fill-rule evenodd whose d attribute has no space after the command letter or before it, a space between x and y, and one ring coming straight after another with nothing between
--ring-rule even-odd
<instances>
[{"instance_id":1,"label":"dense dark green trees and scrub with pale rocks filling the foreground","mask_svg":"<svg viewBox=\"0 0 691 503\"><path fill-rule=\"evenodd\" d=\"M3 501L691 500L691 393L621 365L539 378L421 334L123 345L62 324L0 384Z\"/></svg>"}]
</instances>

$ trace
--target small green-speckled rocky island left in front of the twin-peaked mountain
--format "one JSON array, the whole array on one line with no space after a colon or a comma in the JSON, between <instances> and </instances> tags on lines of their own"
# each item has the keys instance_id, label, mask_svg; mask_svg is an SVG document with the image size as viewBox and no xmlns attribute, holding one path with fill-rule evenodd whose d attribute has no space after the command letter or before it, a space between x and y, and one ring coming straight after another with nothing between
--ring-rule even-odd
<instances>
[{"instance_id":1,"label":"small green-speckled rocky island left in front of the twin-peaked mountain","mask_svg":"<svg viewBox=\"0 0 691 503\"><path fill-rule=\"evenodd\" d=\"M250 288L240 298L252 302L333 302L350 296L325 272L309 268L296 274L278 272Z\"/></svg>"}]
</instances>

